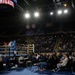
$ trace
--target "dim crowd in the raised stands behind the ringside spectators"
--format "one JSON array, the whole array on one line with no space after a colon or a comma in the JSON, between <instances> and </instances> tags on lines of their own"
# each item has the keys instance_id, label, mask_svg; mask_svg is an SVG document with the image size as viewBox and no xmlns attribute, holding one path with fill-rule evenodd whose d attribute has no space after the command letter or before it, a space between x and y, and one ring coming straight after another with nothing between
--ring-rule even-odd
<instances>
[{"instance_id":1,"label":"dim crowd in the raised stands behind the ringside spectators","mask_svg":"<svg viewBox=\"0 0 75 75\"><path fill-rule=\"evenodd\" d=\"M56 48L57 51L58 50L64 50L64 51L75 50L75 35L71 33L36 35L36 36L29 36L25 39L22 42L24 44L34 44L34 47L35 47L34 49L36 53L37 52L38 53L52 52L54 51L54 47L56 46L56 44L59 44L58 48Z\"/></svg>"}]
</instances>

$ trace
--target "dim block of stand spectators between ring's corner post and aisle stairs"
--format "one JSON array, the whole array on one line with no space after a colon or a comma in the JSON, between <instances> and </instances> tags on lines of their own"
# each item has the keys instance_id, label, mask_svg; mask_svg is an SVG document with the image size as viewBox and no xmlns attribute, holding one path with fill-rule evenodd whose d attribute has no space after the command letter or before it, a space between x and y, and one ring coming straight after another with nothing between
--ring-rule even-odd
<instances>
[{"instance_id":1,"label":"dim block of stand spectators between ring's corner post and aisle stairs","mask_svg":"<svg viewBox=\"0 0 75 75\"><path fill-rule=\"evenodd\" d=\"M56 43L56 36L34 37L35 52L52 52Z\"/></svg>"}]
</instances>

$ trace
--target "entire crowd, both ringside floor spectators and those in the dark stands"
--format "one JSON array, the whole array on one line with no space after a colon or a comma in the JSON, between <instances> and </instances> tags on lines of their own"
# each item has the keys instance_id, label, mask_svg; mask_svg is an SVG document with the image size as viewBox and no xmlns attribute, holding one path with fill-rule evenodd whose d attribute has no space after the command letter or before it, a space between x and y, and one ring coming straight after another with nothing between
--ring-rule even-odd
<instances>
[{"instance_id":1,"label":"entire crowd, both ringside floor spectators and those in the dark stands","mask_svg":"<svg viewBox=\"0 0 75 75\"><path fill-rule=\"evenodd\" d=\"M0 71L14 67L27 67L37 65L40 70L50 71L67 70L75 71L75 36L72 34L64 35L42 35L33 36L35 53L27 56L7 57L6 54L0 55ZM60 50L66 52L54 52L55 45L59 43ZM69 51L68 51L69 50Z\"/></svg>"}]
</instances>

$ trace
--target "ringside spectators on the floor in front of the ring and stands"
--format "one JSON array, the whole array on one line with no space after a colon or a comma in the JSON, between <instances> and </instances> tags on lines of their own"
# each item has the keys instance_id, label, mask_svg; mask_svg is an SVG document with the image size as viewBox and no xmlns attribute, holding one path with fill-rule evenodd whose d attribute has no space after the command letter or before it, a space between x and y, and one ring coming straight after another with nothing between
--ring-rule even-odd
<instances>
[{"instance_id":1,"label":"ringside spectators on the floor in front of the ring and stands","mask_svg":"<svg viewBox=\"0 0 75 75\"><path fill-rule=\"evenodd\" d=\"M75 71L75 52L59 53L51 52L48 54L34 54L30 53L28 56L7 57L6 54L0 56L0 71L9 70L14 67L27 67L36 65L39 70L50 71Z\"/></svg>"}]
</instances>

